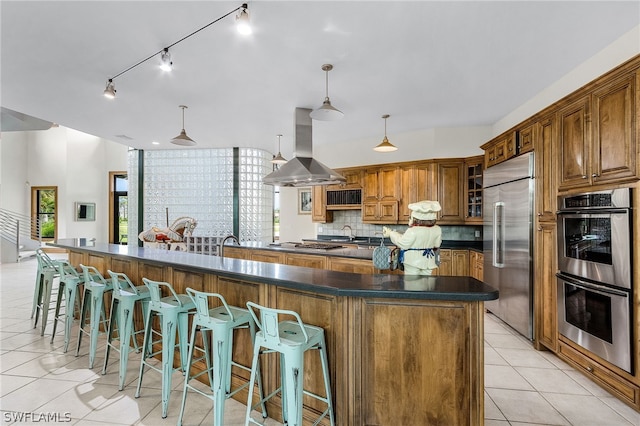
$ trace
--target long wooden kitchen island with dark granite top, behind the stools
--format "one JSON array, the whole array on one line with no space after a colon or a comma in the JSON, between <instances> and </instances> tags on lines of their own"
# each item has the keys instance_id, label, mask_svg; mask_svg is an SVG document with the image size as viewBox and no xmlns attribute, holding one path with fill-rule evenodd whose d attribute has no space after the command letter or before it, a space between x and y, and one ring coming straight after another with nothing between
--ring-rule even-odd
<instances>
[{"instance_id":1,"label":"long wooden kitchen island with dark granite top, behind the stools","mask_svg":"<svg viewBox=\"0 0 640 426\"><path fill-rule=\"evenodd\" d=\"M51 245L67 249L74 265L168 281L178 292L218 292L236 306L291 309L323 327L338 425L484 422L483 305L498 293L474 278L344 273L84 239ZM322 394L316 358L305 357L305 388ZM235 336L234 359L250 364L248 332ZM277 365L272 356L263 366L267 393L278 385ZM234 369L234 387L247 380ZM272 401L269 416L280 419ZM322 409L304 403L307 420Z\"/></svg>"}]
</instances>

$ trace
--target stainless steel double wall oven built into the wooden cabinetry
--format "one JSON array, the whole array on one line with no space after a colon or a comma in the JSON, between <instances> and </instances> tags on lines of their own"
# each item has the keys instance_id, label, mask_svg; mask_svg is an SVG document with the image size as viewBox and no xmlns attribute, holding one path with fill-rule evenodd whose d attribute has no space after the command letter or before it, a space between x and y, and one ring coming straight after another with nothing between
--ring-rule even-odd
<instances>
[{"instance_id":1,"label":"stainless steel double wall oven built into the wooden cabinetry","mask_svg":"<svg viewBox=\"0 0 640 426\"><path fill-rule=\"evenodd\" d=\"M561 196L557 215L560 334L629 373L631 196L630 188Z\"/></svg>"}]
</instances>

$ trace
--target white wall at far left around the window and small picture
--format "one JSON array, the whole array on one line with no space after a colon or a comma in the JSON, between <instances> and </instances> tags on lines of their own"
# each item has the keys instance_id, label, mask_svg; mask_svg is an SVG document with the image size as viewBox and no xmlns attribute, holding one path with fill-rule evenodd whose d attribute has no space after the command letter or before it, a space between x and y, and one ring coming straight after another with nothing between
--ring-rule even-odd
<instances>
[{"instance_id":1,"label":"white wall at far left around the window and small picture","mask_svg":"<svg viewBox=\"0 0 640 426\"><path fill-rule=\"evenodd\" d=\"M1 207L29 215L31 187L58 187L58 237L108 241L109 172L127 170L127 147L65 127L2 134ZM95 222L74 202L96 203Z\"/></svg>"}]
</instances>

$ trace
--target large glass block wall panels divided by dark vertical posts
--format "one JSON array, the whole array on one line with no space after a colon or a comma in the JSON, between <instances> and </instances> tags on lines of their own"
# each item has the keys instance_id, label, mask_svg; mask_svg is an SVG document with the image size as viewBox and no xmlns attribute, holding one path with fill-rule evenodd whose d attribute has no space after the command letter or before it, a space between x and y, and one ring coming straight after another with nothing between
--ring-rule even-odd
<instances>
[{"instance_id":1,"label":"large glass block wall panels divided by dark vertical posts","mask_svg":"<svg viewBox=\"0 0 640 426\"><path fill-rule=\"evenodd\" d=\"M239 149L239 187L234 190L233 148L157 150L144 152L144 183L138 183L138 151L129 155L129 241L151 227L164 228L179 217L198 221L194 236L233 233L238 215L241 241L271 242L273 187L262 178L271 171L271 154ZM137 229L138 197L142 191L143 229ZM234 213L234 192L239 211ZM134 219L135 218L135 219Z\"/></svg>"}]
</instances>

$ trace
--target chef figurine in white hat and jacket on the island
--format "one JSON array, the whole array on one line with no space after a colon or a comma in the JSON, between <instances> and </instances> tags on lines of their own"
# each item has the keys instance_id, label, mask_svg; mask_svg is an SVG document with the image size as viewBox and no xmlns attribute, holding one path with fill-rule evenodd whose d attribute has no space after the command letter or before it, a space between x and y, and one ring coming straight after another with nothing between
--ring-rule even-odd
<instances>
[{"instance_id":1,"label":"chef figurine in white hat and jacket on the island","mask_svg":"<svg viewBox=\"0 0 640 426\"><path fill-rule=\"evenodd\" d=\"M386 226L382 229L382 234L390 237L391 242L400 248L398 261L404 264L406 275L431 275L431 271L438 267L437 250L442 243L442 230L436 225L436 217L441 209L437 201L411 203L409 229L404 234Z\"/></svg>"}]
</instances>

